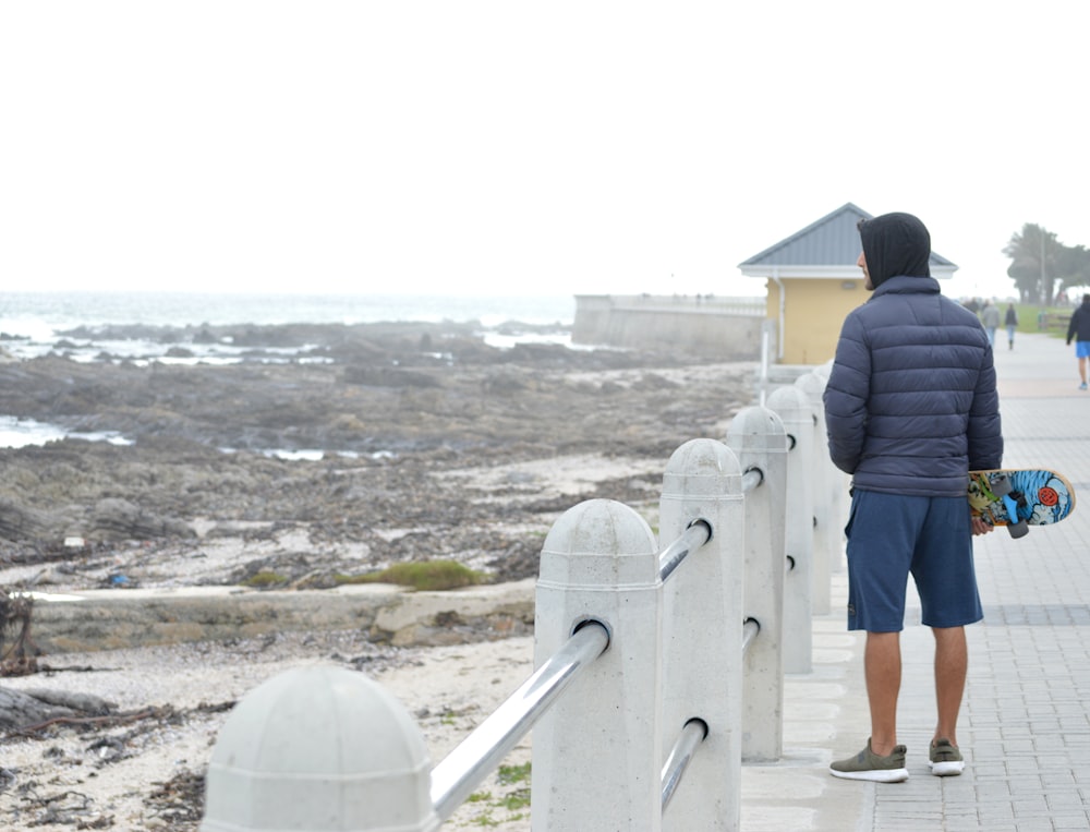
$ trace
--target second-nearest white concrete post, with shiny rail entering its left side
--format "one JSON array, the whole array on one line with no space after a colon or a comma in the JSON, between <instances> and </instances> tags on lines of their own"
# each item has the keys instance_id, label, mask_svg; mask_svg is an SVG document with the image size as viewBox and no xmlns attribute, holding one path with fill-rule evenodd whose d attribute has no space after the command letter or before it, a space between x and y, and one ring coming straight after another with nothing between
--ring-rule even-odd
<instances>
[{"instance_id":1,"label":"second-nearest white concrete post, with shiny rail entering its left side","mask_svg":"<svg viewBox=\"0 0 1090 832\"><path fill-rule=\"evenodd\" d=\"M631 508L591 499L542 548L534 625L541 666L580 623L609 647L534 727L535 832L662 829L662 581L655 535Z\"/></svg>"}]
</instances>

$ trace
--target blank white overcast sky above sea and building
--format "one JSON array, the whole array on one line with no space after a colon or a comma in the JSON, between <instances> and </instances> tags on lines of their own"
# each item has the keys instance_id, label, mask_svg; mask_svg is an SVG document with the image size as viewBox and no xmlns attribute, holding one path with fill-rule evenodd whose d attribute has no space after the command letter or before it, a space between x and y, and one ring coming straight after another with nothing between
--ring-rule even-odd
<instances>
[{"instance_id":1,"label":"blank white overcast sky above sea and building","mask_svg":"<svg viewBox=\"0 0 1090 832\"><path fill-rule=\"evenodd\" d=\"M1090 3L4 2L0 288L632 293L853 202L1090 244Z\"/></svg>"}]
</instances>

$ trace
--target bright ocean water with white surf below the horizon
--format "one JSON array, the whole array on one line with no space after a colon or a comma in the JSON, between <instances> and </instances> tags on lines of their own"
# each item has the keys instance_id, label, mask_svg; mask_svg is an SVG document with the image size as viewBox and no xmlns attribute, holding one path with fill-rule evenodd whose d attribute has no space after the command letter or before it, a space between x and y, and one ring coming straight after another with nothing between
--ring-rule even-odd
<instances>
[{"instance_id":1,"label":"bright ocean water with white surf below the horizon","mask_svg":"<svg viewBox=\"0 0 1090 832\"><path fill-rule=\"evenodd\" d=\"M74 338L64 336L81 326L146 324L199 326L229 324L367 324L416 321L476 322L485 342L501 349L524 342L570 346L576 316L573 296L457 297L403 294L243 294L189 292L0 292L0 348L15 359L50 353L72 361L126 360L137 364L225 364L242 360L246 349L231 343L185 343L186 355L168 354L161 340ZM533 330L502 326L530 324ZM294 361L296 350L267 350L268 361ZM109 357L109 358L104 358ZM43 445L74 436L62 426L0 413L0 447ZM83 438L126 444L114 433ZM270 454L287 451L270 449ZM315 451L320 456L320 451ZM311 455L314 456L314 455Z\"/></svg>"}]
</instances>

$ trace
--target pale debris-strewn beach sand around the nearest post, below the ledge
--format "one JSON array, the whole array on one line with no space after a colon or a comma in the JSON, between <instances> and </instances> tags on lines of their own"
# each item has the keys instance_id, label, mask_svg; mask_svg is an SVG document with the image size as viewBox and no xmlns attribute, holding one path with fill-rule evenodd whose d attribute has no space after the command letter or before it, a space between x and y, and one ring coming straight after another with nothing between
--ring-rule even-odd
<instances>
[{"instance_id":1,"label":"pale debris-strewn beach sand around the nearest post, below the ledge","mask_svg":"<svg viewBox=\"0 0 1090 832\"><path fill-rule=\"evenodd\" d=\"M383 685L420 726L434 764L530 676L533 639L395 649L376 648L360 632L322 632L51 656L58 667L93 670L3 685L90 694L114 702L119 713L164 712L114 727L57 725L33 739L9 736L0 746L0 819L10 824L3 828L195 830L203 773L229 714L220 706L312 663L358 668ZM529 760L526 737L504 765ZM506 784L489 774L445 828L526 830L529 788L528 774Z\"/></svg>"}]
</instances>

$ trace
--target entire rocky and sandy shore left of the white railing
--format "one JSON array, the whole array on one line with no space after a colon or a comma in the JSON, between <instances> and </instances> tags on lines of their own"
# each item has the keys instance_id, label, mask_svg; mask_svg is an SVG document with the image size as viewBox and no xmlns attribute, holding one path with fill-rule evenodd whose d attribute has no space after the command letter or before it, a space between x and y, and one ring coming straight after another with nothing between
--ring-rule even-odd
<instances>
[{"instance_id":1,"label":"entire rocky and sandy shore left of the white railing","mask_svg":"<svg viewBox=\"0 0 1090 832\"><path fill-rule=\"evenodd\" d=\"M184 363L178 341L199 333L130 334L169 341L183 363L75 361L63 347L0 363L0 413L130 443L0 449L7 590L334 599L346 575L435 559L502 590L536 576L544 535L582 499L621 501L654 526L670 454L722 438L753 400L750 363L500 350L461 325L209 329L245 339L246 355L228 364ZM94 651L39 656L37 672L0 684L0 700L93 709L5 729L0 815L16 828L194 832L231 706L300 664L377 678L417 721L433 762L532 672L532 611L505 613L502 627L445 616L400 640L395 625L376 638L318 623L253 637L240 624L234 636L140 649L111 649L108 618L94 623ZM529 739L505 762L508 774L451 828L529 828Z\"/></svg>"}]
</instances>

